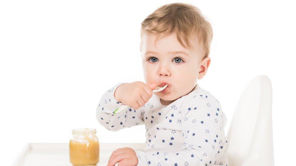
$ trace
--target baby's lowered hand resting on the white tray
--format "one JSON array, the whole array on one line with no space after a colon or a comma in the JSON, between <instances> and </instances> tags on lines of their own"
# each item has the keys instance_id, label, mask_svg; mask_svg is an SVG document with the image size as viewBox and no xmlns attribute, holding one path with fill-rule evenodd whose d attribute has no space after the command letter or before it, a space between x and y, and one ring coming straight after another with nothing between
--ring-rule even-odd
<instances>
[{"instance_id":1,"label":"baby's lowered hand resting on the white tray","mask_svg":"<svg viewBox=\"0 0 296 166\"><path fill-rule=\"evenodd\" d=\"M138 162L136 152L132 148L126 147L113 151L107 166L114 166L116 163L118 166L138 165Z\"/></svg>"}]
</instances>

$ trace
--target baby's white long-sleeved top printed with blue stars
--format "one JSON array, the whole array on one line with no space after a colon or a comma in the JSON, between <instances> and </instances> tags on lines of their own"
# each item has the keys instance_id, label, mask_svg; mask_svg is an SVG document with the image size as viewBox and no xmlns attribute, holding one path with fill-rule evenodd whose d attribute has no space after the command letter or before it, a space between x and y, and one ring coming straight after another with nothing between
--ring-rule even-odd
<instances>
[{"instance_id":1,"label":"baby's white long-sleeved top printed with blue stars","mask_svg":"<svg viewBox=\"0 0 296 166\"><path fill-rule=\"evenodd\" d=\"M224 135L226 117L219 101L198 84L188 93L165 106L155 94L139 109L113 114L122 103L114 92L118 83L103 94L96 118L111 131L145 125L146 148L137 151L138 165L190 166L228 165Z\"/></svg>"}]
</instances>

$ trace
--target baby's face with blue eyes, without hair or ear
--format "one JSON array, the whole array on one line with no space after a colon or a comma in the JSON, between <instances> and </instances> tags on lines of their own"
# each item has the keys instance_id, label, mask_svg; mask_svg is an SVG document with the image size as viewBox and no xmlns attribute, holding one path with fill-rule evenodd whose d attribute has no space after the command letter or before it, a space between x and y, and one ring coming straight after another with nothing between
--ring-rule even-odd
<instances>
[{"instance_id":1,"label":"baby's face with blue eyes, without hair or ear","mask_svg":"<svg viewBox=\"0 0 296 166\"><path fill-rule=\"evenodd\" d=\"M142 65L147 84L168 84L161 92L154 93L162 100L172 101L193 90L200 71L202 50L199 42L191 41L194 49L184 48L175 34L159 39L156 35L144 34L142 38Z\"/></svg>"}]
</instances>

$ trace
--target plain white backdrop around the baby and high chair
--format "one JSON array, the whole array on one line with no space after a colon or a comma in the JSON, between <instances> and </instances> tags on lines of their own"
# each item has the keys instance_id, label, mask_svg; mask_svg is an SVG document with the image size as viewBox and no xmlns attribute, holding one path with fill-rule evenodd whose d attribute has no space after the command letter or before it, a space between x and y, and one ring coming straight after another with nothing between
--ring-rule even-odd
<instances>
[{"instance_id":1,"label":"plain white backdrop around the baby and high chair","mask_svg":"<svg viewBox=\"0 0 296 166\"><path fill-rule=\"evenodd\" d=\"M197 6L213 26L212 61L198 84L220 101L225 134L247 83L267 75L275 165L294 163L291 2L39 0L0 1L1 165L11 164L25 143L69 142L75 128L96 128L101 143L145 142L143 125L118 132L103 128L96 106L116 83L144 82L140 24L172 2Z\"/></svg>"}]
</instances>

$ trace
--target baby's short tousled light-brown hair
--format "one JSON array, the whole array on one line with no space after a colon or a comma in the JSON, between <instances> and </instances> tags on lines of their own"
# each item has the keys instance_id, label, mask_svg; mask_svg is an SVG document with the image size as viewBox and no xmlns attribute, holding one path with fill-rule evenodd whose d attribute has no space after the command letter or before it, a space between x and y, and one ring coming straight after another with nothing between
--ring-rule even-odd
<instances>
[{"instance_id":1,"label":"baby's short tousled light-brown hair","mask_svg":"<svg viewBox=\"0 0 296 166\"><path fill-rule=\"evenodd\" d=\"M156 41L170 34L176 33L177 40L184 48L192 49L190 36L197 37L202 44L203 57L210 54L210 44L213 39L211 24L201 14L200 10L185 3L170 3L160 6L148 15L141 23L141 46L143 34L157 34ZM183 41L185 41L185 44Z\"/></svg>"}]
</instances>

